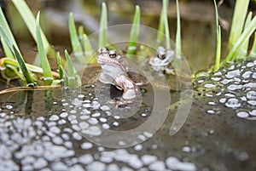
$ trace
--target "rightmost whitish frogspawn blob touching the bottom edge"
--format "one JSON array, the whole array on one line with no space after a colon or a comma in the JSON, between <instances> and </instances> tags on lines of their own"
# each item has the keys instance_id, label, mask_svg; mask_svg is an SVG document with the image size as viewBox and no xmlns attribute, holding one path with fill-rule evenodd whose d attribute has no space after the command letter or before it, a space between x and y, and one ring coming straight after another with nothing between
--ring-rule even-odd
<instances>
[{"instance_id":1,"label":"rightmost whitish frogspawn blob touching the bottom edge","mask_svg":"<svg viewBox=\"0 0 256 171\"><path fill-rule=\"evenodd\" d=\"M172 170L195 171L195 164L191 162L180 162L176 157L168 157L166 159L166 166Z\"/></svg>"}]
</instances>

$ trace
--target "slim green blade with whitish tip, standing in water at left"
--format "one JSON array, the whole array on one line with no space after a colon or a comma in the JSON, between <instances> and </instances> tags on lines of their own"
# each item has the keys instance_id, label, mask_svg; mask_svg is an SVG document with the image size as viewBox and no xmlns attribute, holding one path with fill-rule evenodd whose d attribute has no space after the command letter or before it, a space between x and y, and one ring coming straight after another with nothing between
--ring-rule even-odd
<instances>
[{"instance_id":1,"label":"slim green blade with whitish tip, standing in water at left","mask_svg":"<svg viewBox=\"0 0 256 171\"><path fill-rule=\"evenodd\" d=\"M36 25L38 54L39 54L41 65L44 71L44 83L45 85L50 85L53 82L54 78L49 66L47 55L45 54L45 51L44 51L44 43L41 37L41 30L39 26L39 16L40 16L40 12L38 12L38 15L37 15L37 25Z\"/></svg>"}]
</instances>

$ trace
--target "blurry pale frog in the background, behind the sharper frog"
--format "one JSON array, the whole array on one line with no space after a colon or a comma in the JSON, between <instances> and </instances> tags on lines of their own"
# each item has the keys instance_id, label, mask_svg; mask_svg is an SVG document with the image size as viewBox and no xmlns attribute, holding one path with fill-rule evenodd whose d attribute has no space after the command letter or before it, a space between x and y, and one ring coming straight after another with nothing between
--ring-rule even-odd
<instances>
[{"instance_id":1,"label":"blurry pale frog in the background, behind the sharper frog","mask_svg":"<svg viewBox=\"0 0 256 171\"><path fill-rule=\"evenodd\" d=\"M166 74L174 74L174 71L168 68L173 58L173 50L166 50L166 48L160 46L156 50L156 56L149 60L149 65L152 66L154 71L163 71Z\"/></svg>"}]
</instances>

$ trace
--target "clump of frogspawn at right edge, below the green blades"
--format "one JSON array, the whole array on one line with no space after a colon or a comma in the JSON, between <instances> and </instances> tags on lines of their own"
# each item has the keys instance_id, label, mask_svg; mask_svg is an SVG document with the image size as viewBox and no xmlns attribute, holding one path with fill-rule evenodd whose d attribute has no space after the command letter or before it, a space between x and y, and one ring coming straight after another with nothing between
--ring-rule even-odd
<instances>
[{"instance_id":1,"label":"clump of frogspawn at right edge, below the green blades","mask_svg":"<svg viewBox=\"0 0 256 171\"><path fill-rule=\"evenodd\" d=\"M207 113L218 114L220 105L236 116L256 120L256 60L232 63L210 76L195 80L197 95L207 100Z\"/></svg>"}]
</instances>

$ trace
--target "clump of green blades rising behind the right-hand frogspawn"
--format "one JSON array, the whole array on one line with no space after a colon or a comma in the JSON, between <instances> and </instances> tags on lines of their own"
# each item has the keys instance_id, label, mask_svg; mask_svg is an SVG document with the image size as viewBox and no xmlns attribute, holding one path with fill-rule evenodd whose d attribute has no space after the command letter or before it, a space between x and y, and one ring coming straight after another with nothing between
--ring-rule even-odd
<instances>
[{"instance_id":1,"label":"clump of green blades rising behind the right-hand frogspawn","mask_svg":"<svg viewBox=\"0 0 256 171\"><path fill-rule=\"evenodd\" d=\"M247 14L249 0L236 1L236 7L233 14L232 25L230 28L230 38L228 43L227 55L224 60L220 61L221 52L221 28L218 26L218 8L214 0L214 7L216 13L216 31L217 31L217 48L215 66L210 71L218 71L220 66L226 65L233 60L242 59L254 56L256 54L255 44L256 39L253 40L253 48L248 49L250 37L255 35L256 16L252 17L252 13ZM247 17L246 17L247 15ZM250 52L250 53L249 53Z\"/></svg>"}]
</instances>

